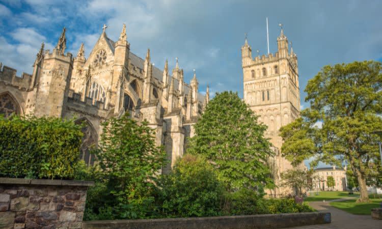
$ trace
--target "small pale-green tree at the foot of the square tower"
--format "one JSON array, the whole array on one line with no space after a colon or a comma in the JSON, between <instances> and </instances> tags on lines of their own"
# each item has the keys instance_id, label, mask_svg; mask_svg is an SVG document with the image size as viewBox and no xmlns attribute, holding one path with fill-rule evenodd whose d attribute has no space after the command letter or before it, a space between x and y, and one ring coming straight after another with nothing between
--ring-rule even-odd
<instances>
[{"instance_id":1,"label":"small pale-green tree at the foot of the square tower","mask_svg":"<svg viewBox=\"0 0 382 229\"><path fill-rule=\"evenodd\" d=\"M296 195L302 195L303 189L311 189L313 170L292 168L281 174L281 185L295 190Z\"/></svg>"}]
</instances>

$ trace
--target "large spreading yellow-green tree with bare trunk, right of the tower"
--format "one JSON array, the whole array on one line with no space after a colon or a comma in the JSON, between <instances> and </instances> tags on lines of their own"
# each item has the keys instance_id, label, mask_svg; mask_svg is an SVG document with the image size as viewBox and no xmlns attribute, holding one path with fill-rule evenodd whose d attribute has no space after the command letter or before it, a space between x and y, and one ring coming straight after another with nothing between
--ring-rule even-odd
<instances>
[{"instance_id":1,"label":"large spreading yellow-green tree with bare trunk, right of the tower","mask_svg":"<svg viewBox=\"0 0 382 229\"><path fill-rule=\"evenodd\" d=\"M381 63L325 66L305 92L310 108L281 128L282 154L294 164L314 156L311 166L346 160L360 186L358 202L368 202L366 180L382 171L376 145L380 138L373 133L382 129Z\"/></svg>"}]
</instances>

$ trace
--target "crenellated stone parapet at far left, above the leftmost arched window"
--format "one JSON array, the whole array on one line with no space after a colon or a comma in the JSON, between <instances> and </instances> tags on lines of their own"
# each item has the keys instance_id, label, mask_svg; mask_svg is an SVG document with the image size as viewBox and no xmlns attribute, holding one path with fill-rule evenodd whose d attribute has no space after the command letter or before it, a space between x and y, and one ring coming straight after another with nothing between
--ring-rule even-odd
<instances>
[{"instance_id":1,"label":"crenellated stone parapet at far left, above the leftmost arched window","mask_svg":"<svg viewBox=\"0 0 382 229\"><path fill-rule=\"evenodd\" d=\"M32 75L23 72L21 77L18 77L16 76L16 73L16 69L8 66L2 68L2 64L0 63L0 81L12 85L13 87L17 87L20 90L28 90L31 84Z\"/></svg>"}]
</instances>

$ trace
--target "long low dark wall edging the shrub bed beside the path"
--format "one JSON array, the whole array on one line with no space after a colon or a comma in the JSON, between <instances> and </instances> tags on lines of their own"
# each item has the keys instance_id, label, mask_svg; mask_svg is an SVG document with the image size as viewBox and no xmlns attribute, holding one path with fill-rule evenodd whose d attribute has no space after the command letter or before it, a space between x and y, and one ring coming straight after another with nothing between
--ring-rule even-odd
<instances>
[{"instance_id":1,"label":"long low dark wall edging the shrub bed beside the path","mask_svg":"<svg viewBox=\"0 0 382 229\"><path fill-rule=\"evenodd\" d=\"M156 228L156 229L252 229L284 228L331 222L328 212L307 212L267 215L239 215L172 219L99 220L85 221L83 228Z\"/></svg>"}]
</instances>

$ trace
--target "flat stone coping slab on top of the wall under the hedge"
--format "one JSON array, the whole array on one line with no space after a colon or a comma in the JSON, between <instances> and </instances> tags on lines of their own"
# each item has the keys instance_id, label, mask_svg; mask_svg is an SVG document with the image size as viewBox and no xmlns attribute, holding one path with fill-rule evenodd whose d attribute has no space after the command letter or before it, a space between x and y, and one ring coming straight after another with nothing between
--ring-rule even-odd
<instances>
[{"instance_id":1,"label":"flat stone coping slab on top of the wall under the hedge","mask_svg":"<svg viewBox=\"0 0 382 229\"><path fill-rule=\"evenodd\" d=\"M49 180L49 179L23 179L0 177L0 184L18 185L53 185L53 186L94 186L94 181L71 181L71 180Z\"/></svg>"}]
</instances>

